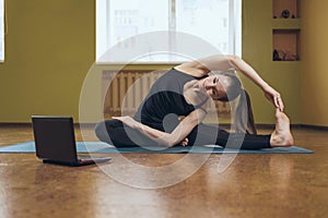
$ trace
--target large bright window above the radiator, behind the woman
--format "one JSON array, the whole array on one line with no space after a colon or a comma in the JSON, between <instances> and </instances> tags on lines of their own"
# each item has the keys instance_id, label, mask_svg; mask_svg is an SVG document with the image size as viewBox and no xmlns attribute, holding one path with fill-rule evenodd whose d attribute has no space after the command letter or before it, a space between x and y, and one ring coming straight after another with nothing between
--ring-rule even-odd
<instances>
[{"instance_id":1,"label":"large bright window above the radiator, behind the woman","mask_svg":"<svg viewBox=\"0 0 328 218\"><path fill-rule=\"evenodd\" d=\"M113 57L106 56L106 52L115 47L126 53L139 49L143 57L136 59L136 63L181 62L187 58L173 52L186 41L177 41L178 34L203 40L221 53L241 56L241 1L97 0L96 60L113 62ZM148 36L148 33L154 33L153 38L159 36L155 33L167 34L152 46L149 38L142 40L138 37ZM167 45L166 52L153 48L161 47L160 44Z\"/></svg>"}]
</instances>

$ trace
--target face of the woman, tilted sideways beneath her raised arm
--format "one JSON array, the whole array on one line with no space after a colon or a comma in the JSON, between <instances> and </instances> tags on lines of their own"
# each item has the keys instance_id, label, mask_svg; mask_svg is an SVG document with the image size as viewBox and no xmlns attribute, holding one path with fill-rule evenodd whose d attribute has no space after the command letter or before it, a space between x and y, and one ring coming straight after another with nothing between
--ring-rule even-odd
<instances>
[{"instance_id":1,"label":"face of the woman, tilted sideways beneath her raised arm","mask_svg":"<svg viewBox=\"0 0 328 218\"><path fill-rule=\"evenodd\" d=\"M229 77L224 75L210 75L201 81L206 93L213 100L226 98L226 88L230 85Z\"/></svg>"}]
</instances>

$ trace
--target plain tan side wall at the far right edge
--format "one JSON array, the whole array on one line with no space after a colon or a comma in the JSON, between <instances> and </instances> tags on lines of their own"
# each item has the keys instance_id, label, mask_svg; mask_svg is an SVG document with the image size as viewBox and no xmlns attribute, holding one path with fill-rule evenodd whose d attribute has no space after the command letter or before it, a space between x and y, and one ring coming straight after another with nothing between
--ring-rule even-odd
<instances>
[{"instance_id":1,"label":"plain tan side wall at the far right edge","mask_svg":"<svg viewBox=\"0 0 328 218\"><path fill-rule=\"evenodd\" d=\"M302 122L328 126L327 0L302 1Z\"/></svg>"}]
</instances>

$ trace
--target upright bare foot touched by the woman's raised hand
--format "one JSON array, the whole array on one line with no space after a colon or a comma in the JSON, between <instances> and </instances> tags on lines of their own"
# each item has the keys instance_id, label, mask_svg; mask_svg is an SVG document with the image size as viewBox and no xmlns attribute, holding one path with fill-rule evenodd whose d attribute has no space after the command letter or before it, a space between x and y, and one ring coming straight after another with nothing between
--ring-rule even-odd
<instances>
[{"instance_id":1,"label":"upright bare foot touched by the woman's raised hand","mask_svg":"<svg viewBox=\"0 0 328 218\"><path fill-rule=\"evenodd\" d=\"M294 138L290 129L290 119L278 109L276 111L276 130L271 134L270 145L272 147L294 145Z\"/></svg>"}]
</instances>

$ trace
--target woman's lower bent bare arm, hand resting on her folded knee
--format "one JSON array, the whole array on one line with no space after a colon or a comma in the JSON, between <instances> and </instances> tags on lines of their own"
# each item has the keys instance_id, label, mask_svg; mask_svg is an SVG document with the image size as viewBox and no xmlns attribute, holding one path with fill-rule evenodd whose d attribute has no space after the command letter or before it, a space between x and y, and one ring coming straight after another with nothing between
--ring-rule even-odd
<instances>
[{"instance_id":1,"label":"woman's lower bent bare arm, hand resting on her folded knee","mask_svg":"<svg viewBox=\"0 0 328 218\"><path fill-rule=\"evenodd\" d=\"M174 129L172 133L166 133L159 131L156 129L150 128L145 124L142 124L131 117L113 117L113 119L120 120L128 126L140 131L150 138L157 142L160 145L173 146L181 141L184 141L191 130L198 125L206 117L206 111L203 109L196 109L190 112L184 120Z\"/></svg>"}]
</instances>

